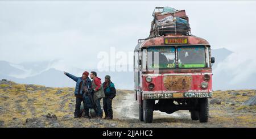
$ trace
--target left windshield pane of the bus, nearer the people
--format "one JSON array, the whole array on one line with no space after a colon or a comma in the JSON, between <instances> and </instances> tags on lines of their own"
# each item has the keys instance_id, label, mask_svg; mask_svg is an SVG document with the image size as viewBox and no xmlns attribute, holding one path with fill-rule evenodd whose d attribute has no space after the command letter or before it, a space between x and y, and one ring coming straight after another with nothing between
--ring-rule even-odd
<instances>
[{"instance_id":1,"label":"left windshield pane of the bus, nearer the people","mask_svg":"<svg viewBox=\"0 0 256 139\"><path fill-rule=\"evenodd\" d=\"M150 47L147 49L147 67L150 69L176 68L174 47Z\"/></svg>"}]
</instances>

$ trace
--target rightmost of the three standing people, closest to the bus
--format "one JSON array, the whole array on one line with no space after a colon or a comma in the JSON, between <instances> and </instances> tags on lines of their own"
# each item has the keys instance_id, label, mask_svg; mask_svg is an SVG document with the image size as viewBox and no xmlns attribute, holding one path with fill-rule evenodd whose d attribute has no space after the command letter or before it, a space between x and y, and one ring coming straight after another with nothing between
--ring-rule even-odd
<instances>
[{"instance_id":1,"label":"rightmost of the three standing people, closest to the bus","mask_svg":"<svg viewBox=\"0 0 256 139\"><path fill-rule=\"evenodd\" d=\"M110 75L105 76L105 82L102 83L105 98L103 98L104 119L113 119L112 100L115 97L116 90L114 83L110 81Z\"/></svg>"}]
</instances>

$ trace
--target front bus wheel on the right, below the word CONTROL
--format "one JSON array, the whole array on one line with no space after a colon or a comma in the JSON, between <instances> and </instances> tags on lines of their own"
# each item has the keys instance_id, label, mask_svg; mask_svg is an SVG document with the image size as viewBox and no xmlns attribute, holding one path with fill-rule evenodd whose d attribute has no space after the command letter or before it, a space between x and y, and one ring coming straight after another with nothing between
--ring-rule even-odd
<instances>
[{"instance_id":1,"label":"front bus wheel on the right, below the word CONTROL","mask_svg":"<svg viewBox=\"0 0 256 139\"><path fill-rule=\"evenodd\" d=\"M199 99L199 121L206 123L209 116L208 98Z\"/></svg>"}]
</instances>

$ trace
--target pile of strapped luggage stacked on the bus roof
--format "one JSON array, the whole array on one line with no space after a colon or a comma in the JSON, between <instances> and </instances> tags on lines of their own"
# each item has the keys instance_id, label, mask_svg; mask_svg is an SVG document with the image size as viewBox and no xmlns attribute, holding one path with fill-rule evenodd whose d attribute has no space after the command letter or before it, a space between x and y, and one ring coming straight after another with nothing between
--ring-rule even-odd
<instances>
[{"instance_id":1,"label":"pile of strapped luggage stacked on the bus roof","mask_svg":"<svg viewBox=\"0 0 256 139\"><path fill-rule=\"evenodd\" d=\"M162 36L170 33L188 35L190 31L185 10L175 10L171 7L155 7L152 15L154 20L151 23L150 36Z\"/></svg>"}]
</instances>

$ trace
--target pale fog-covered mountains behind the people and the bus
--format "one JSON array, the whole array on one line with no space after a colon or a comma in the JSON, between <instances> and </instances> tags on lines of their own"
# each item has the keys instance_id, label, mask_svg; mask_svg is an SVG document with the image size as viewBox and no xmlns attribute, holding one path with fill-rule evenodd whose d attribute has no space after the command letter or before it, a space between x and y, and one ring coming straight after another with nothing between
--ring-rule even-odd
<instances>
[{"instance_id":1,"label":"pale fog-covered mountains behind the people and the bus","mask_svg":"<svg viewBox=\"0 0 256 139\"><path fill-rule=\"evenodd\" d=\"M213 64L213 90L256 89L256 73L240 75L250 60L243 61L240 65L229 66L232 60L232 51L221 48L213 49L212 56L216 62ZM231 57L231 58L230 58ZM236 59L234 59L236 60ZM106 74L112 77L117 89L133 90L133 72L100 72L97 69L79 69L60 64L60 60L43 62L24 62L11 64L0 61L0 79L8 79L17 83L44 85L49 87L74 87L75 82L63 74L63 70L76 76L81 76L84 70L96 71L98 77L104 81ZM240 82L241 81L241 82Z\"/></svg>"}]
</instances>

